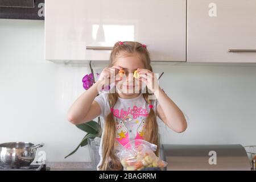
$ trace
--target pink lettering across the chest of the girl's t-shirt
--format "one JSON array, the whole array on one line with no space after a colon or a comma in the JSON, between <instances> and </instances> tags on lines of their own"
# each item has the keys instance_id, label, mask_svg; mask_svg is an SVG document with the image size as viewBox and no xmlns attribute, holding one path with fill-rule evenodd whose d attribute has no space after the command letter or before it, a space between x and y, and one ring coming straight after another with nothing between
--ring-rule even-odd
<instances>
[{"instance_id":1,"label":"pink lettering across the chest of the girl's t-shirt","mask_svg":"<svg viewBox=\"0 0 256 182\"><path fill-rule=\"evenodd\" d=\"M142 107L133 106L133 109L128 107L127 110L114 109L113 114L117 118L123 118L126 115L131 114L131 115L133 115L133 118L136 119L136 118L142 117L142 116L147 117L148 111L147 111L147 109L143 109Z\"/></svg>"}]
</instances>

